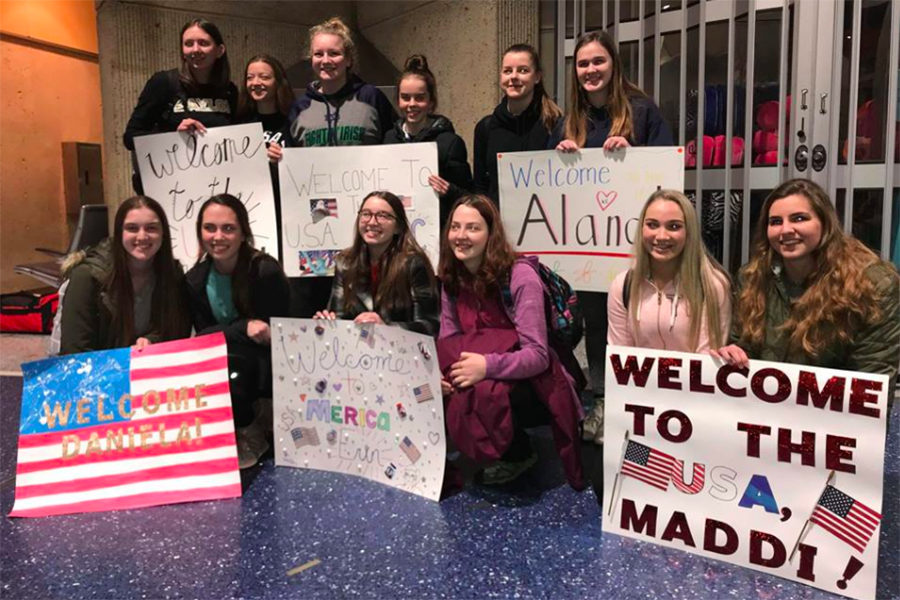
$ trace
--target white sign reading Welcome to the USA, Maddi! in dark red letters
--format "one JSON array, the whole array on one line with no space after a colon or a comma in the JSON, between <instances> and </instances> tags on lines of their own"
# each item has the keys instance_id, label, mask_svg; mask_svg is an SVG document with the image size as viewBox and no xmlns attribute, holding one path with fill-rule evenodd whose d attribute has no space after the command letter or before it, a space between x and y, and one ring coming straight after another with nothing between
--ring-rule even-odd
<instances>
[{"instance_id":1,"label":"white sign reading Welcome to the USA, Maddi! in dark red letters","mask_svg":"<svg viewBox=\"0 0 900 600\"><path fill-rule=\"evenodd\" d=\"M874 598L888 378L607 350L603 529Z\"/></svg>"}]
</instances>

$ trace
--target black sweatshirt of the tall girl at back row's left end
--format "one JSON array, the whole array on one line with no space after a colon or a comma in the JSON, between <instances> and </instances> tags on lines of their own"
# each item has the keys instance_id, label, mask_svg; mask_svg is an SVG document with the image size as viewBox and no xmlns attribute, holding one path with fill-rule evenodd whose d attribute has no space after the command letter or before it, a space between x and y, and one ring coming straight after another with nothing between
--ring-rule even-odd
<instances>
[{"instance_id":1,"label":"black sweatshirt of the tall girl at back row's left end","mask_svg":"<svg viewBox=\"0 0 900 600\"><path fill-rule=\"evenodd\" d=\"M233 123L237 88L201 85L189 94L178 80L178 70L159 71L144 85L122 136L125 147L134 150L134 138L148 133L175 131L184 119L196 119L206 127Z\"/></svg>"}]
</instances>

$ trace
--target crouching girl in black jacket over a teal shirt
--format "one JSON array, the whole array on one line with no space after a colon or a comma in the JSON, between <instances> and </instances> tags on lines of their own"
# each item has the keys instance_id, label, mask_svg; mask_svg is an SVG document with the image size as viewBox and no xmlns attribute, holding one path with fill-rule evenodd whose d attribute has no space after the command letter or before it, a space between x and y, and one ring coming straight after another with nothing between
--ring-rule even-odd
<instances>
[{"instance_id":1,"label":"crouching girl in black jacket over a teal shirt","mask_svg":"<svg viewBox=\"0 0 900 600\"><path fill-rule=\"evenodd\" d=\"M268 450L252 404L259 397L272 397L269 319L288 314L290 291L278 261L253 248L247 209L231 194L203 203L197 239L203 254L185 276L191 315L198 335L225 334L238 462L243 469L255 465Z\"/></svg>"}]
</instances>

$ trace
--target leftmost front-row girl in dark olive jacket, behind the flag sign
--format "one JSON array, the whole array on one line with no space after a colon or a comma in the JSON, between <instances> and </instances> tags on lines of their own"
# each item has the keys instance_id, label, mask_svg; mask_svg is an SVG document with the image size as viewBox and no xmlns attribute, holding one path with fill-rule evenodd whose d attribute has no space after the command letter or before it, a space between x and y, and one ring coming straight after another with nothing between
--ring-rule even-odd
<instances>
[{"instance_id":1,"label":"leftmost front-row girl in dark olive jacket, behind the flag sign","mask_svg":"<svg viewBox=\"0 0 900 600\"><path fill-rule=\"evenodd\" d=\"M62 271L68 279L53 332L59 354L130 345L141 349L191 333L169 222L152 198L123 202L112 238L68 256Z\"/></svg>"}]
</instances>

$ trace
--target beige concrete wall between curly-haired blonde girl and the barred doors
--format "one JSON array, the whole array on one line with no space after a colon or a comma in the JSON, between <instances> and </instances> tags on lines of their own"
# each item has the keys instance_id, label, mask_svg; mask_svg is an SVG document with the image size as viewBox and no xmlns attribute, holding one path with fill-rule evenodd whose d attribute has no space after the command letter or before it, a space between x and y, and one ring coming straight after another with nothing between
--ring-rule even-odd
<instances>
[{"instance_id":1,"label":"beige concrete wall between curly-haired blonde girl and the barred doors","mask_svg":"<svg viewBox=\"0 0 900 600\"><path fill-rule=\"evenodd\" d=\"M438 82L438 112L450 118L472 160L475 124L499 98L496 0L359 2L360 32L397 66L423 53Z\"/></svg>"}]
</instances>

